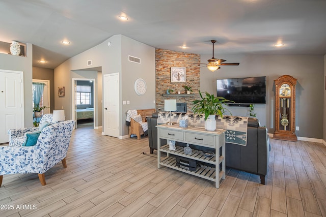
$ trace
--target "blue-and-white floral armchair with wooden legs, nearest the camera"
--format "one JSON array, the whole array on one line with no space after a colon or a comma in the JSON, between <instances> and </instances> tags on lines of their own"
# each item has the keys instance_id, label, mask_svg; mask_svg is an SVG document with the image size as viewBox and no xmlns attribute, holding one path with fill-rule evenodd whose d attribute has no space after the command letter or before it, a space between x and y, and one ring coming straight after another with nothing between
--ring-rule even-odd
<instances>
[{"instance_id":1,"label":"blue-and-white floral armchair with wooden legs, nearest the camera","mask_svg":"<svg viewBox=\"0 0 326 217\"><path fill-rule=\"evenodd\" d=\"M59 162L66 165L66 154L74 127L73 120L46 126L33 146L0 146L0 187L3 175L38 173L45 185L44 173Z\"/></svg>"}]
</instances>

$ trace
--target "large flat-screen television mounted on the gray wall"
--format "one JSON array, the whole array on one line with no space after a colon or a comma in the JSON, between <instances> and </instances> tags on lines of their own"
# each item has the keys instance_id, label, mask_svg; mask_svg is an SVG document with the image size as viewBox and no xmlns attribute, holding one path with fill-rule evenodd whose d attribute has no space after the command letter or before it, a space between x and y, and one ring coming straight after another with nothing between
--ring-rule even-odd
<instances>
[{"instance_id":1,"label":"large flat-screen television mounted on the gray wall","mask_svg":"<svg viewBox=\"0 0 326 217\"><path fill-rule=\"evenodd\" d=\"M236 104L265 104L266 76L216 80L218 97Z\"/></svg>"}]
</instances>

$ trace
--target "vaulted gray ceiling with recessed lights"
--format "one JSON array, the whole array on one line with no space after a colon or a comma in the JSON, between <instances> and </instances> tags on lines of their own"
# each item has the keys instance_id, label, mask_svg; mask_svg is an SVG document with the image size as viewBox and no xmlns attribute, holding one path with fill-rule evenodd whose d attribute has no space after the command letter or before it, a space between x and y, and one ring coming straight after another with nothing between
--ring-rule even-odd
<instances>
[{"instance_id":1,"label":"vaulted gray ceiling with recessed lights","mask_svg":"<svg viewBox=\"0 0 326 217\"><path fill-rule=\"evenodd\" d=\"M117 34L197 54L211 54L215 39L216 58L326 54L324 0L2 0L0 20L0 41L32 43L33 66L44 68Z\"/></svg>"}]
</instances>

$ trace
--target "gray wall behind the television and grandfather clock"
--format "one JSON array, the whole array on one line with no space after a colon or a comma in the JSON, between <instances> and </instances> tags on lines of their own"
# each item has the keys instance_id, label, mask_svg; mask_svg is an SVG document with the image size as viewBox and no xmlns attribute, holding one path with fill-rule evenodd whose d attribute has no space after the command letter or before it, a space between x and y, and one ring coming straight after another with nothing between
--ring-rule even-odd
<instances>
[{"instance_id":1,"label":"gray wall behind the television and grandfather clock","mask_svg":"<svg viewBox=\"0 0 326 217\"><path fill-rule=\"evenodd\" d=\"M202 55L201 63L206 63L211 55ZM219 57L217 57L219 58ZM298 137L322 139L323 135L323 89L324 58L321 55L223 55L227 63L240 63L239 66L222 66L210 72L201 68L201 91L216 95L216 79L266 76L267 102L256 104L255 112L261 125L268 133L275 131L275 85L274 80L281 75L297 78L296 84L296 123L300 131ZM228 107L233 115L248 116L248 107Z\"/></svg>"}]
</instances>

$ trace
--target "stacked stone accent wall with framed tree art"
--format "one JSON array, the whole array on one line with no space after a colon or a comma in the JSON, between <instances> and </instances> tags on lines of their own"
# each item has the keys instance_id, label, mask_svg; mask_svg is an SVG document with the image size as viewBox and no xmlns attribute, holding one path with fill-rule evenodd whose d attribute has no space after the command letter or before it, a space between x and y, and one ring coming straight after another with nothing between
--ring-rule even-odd
<instances>
[{"instance_id":1,"label":"stacked stone accent wall with framed tree art","mask_svg":"<svg viewBox=\"0 0 326 217\"><path fill-rule=\"evenodd\" d=\"M200 55L156 48L155 62L156 111L164 111L164 100L176 99L177 103L186 102L187 112L191 112L192 101L199 99ZM171 67L185 67L186 81L171 82ZM188 96L178 96L178 91L185 94L184 85L191 86L193 92ZM167 89L173 89L174 92L166 96Z\"/></svg>"}]
</instances>

